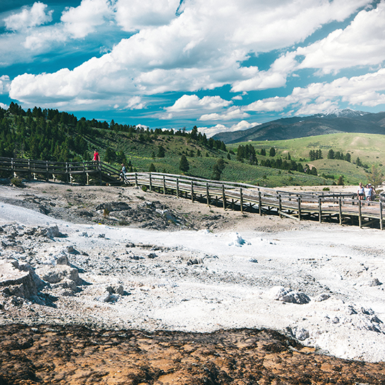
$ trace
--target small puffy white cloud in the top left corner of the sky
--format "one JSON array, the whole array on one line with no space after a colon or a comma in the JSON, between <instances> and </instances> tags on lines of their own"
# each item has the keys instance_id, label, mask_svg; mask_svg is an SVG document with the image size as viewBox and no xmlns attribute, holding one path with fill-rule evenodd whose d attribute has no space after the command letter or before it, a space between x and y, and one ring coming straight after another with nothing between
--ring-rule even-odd
<instances>
[{"instance_id":1,"label":"small puffy white cloud in the top left corner of the sky","mask_svg":"<svg viewBox=\"0 0 385 385\"><path fill-rule=\"evenodd\" d=\"M53 11L46 13L46 8L47 4L42 4L40 1L33 4L31 8L23 8L23 11L4 19L6 29L18 31L49 23L52 20Z\"/></svg>"}]
</instances>

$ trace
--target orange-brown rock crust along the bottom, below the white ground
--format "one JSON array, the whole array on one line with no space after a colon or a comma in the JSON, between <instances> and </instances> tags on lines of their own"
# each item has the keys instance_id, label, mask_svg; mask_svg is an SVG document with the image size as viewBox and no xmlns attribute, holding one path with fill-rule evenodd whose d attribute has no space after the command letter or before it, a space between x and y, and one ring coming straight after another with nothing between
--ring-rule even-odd
<instances>
[{"instance_id":1,"label":"orange-brown rock crust along the bottom, below the white ground","mask_svg":"<svg viewBox=\"0 0 385 385\"><path fill-rule=\"evenodd\" d=\"M0 328L0 384L385 384L385 363L341 360L275 331Z\"/></svg>"}]
</instances>

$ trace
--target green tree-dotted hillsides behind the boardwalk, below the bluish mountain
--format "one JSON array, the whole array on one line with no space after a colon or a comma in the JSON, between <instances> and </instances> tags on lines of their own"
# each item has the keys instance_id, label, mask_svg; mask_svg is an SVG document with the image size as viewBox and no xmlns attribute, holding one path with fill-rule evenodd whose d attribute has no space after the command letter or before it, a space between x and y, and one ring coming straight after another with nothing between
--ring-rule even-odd
<instances>
[{"instance_id":1,"label":"green tree-dotted hillsides behind the boardwalk, below the bluish mountain","mask_svg":"<svg viewBox=\"0 0 385 385\"><path fill-rule=\"evenodd\" d=\"M269 187L336 184L340 176L345 184L366 182L372 165L384 168L384 144L381 135L332 134L225 146L223 141L206 138L196 127L189 132L162 131L114 121L78 120L52 109L24 111L14 103L8 110L0 108L0 156L85 161L97 149L101 160L115 167L124 162L129 171L172 174L182 173L180 162L186 157L188 170L184 172L191 176ZM349 154L350 162L328 159L331 149L343 159ZM322 158L309 158L311 150L322 153Z\"/></svg>"}]
</instances>

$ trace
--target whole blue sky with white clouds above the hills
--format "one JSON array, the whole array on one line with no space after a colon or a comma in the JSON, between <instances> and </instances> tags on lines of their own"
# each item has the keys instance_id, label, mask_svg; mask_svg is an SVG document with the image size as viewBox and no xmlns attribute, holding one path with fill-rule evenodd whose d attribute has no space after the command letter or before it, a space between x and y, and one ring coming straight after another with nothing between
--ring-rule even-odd
<instances>
[{"instance_id":1,"label":"whole blue sky with white clouds above the hills","mask_svg":"<svg viewBox=\"0 0 385 385\"><path fill-rule=\"evenodd\" d=\"M0 106L211 136L385 109L385 0L0 1Z\"/></svg>"}]
</instances>

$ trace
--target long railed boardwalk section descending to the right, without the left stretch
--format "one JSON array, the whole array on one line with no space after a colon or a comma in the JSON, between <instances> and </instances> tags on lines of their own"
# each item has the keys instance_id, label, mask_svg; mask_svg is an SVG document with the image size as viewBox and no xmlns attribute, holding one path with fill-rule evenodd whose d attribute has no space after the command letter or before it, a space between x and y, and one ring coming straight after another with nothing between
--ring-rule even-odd
<instances>
[{"instance_id":1,"label":"long railed boardwalk section descending to the right, without the left stretch","mask_svg":"<svg viewBox=\"0 0 385 385\"><path fill-rule=\"evenodd\" d=\"M356 194L311 191L294 193L251 184L221 182L159 172L130 172L126 184L151 191L175 194L208 206L231 208L242 213L277 214L281 218L334 221L340 225L374 225L383 228L383 203L360 201Z\"/></svg>"}]
</instances>

